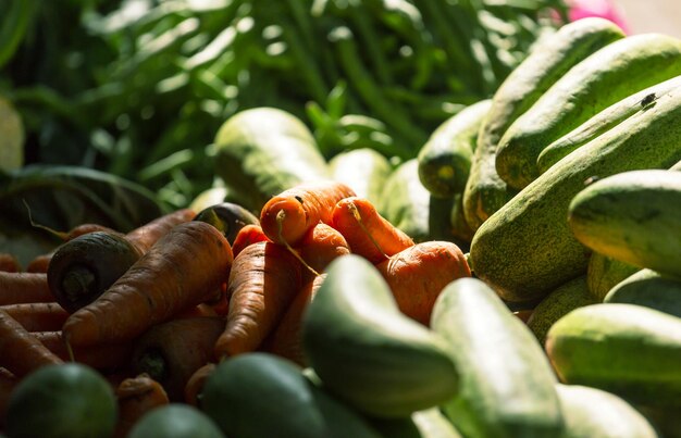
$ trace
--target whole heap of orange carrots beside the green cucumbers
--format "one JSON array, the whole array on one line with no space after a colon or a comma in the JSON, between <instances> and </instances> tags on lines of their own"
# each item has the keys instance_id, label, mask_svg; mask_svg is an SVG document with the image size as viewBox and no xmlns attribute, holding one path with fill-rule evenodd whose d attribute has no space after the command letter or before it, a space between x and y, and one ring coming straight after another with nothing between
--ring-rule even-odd
<instances>
[{"instance_id":1,"label":"whole heap of orange carrots beside the green cucumbers","mask_svg":"<svg viewBox=\"0 0 681 438\"><path fill-rule=\"evenodd\" d=\"M444 286L471 275L455 243L414 243L340 183L283 191L233 241L195 218L175 212L124 235L139 258L75 310L55 302L45 272L0 265L10 266L0 272L0 424L15 384L46 364L78 361L109 377L126 405L121 429L159 403L200 404L206 376L236 354L270 351L305 365L301 317L325 267L345 254L371 261L400 310L425 325ZM131 385L149 402L125 401Z\"/></svg>"}]
</instances>

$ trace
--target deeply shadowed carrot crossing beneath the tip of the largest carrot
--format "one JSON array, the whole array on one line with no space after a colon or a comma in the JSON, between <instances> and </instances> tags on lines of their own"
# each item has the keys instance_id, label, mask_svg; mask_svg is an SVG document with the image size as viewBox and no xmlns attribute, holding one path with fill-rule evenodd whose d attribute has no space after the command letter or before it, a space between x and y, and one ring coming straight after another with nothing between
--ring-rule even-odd
<instances>
[{"instance_id":1,"label":"deeply shadowed carrot crossing beneath the tip of the largest carrot","mask_svg":"<svg viewBox=\"0 0 681 438\"><path fill-rule=\"evenodd\" d=\"M61 330L34 331L32 335L62 361L83 363L102 372L125 368L133 353L132 342L75 347L69 351ZM73 358L71 356L72 353Z\"/></svg>"}]
</instances>

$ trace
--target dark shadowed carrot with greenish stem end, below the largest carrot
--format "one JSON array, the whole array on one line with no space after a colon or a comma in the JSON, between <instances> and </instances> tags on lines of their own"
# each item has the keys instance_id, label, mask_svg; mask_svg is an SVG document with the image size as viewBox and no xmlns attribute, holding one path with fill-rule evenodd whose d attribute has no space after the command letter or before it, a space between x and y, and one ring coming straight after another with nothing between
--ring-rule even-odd
<instances>
[{"instance_id":1,"label":"dark shadowed carrot with greenish stem end, below the largest carrot","mask_svg":"<svg viewBox=\"0 0 681 438\"><path fill-rule=\"evenodd\" d=\"M214 361L213 346L224 327L222 317L179 318L156 325L135 341L132 371L160 383L171 401L183 401L189 377Z\"/></svg>"}]
</instances>

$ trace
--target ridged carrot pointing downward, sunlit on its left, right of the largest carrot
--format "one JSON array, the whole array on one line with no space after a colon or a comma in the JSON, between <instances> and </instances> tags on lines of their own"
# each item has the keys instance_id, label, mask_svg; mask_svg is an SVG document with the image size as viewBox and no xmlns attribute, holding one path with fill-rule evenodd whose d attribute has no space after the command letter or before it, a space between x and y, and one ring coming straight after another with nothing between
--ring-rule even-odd
<instances>
[{"instance_id":1,"label":"ridged carrot pointing downward, sunlit on its left, right of the largest carrot","mask_svg":"<svg viewBox=\"0 0 681 438\"><path fill-rule=\"evenodd\" d=\"M227 281L227 324L215 342L215 359L255 351L280 322L301 287L302 265L274 242L246 247Z\"/></svg>"}]
</instances>

